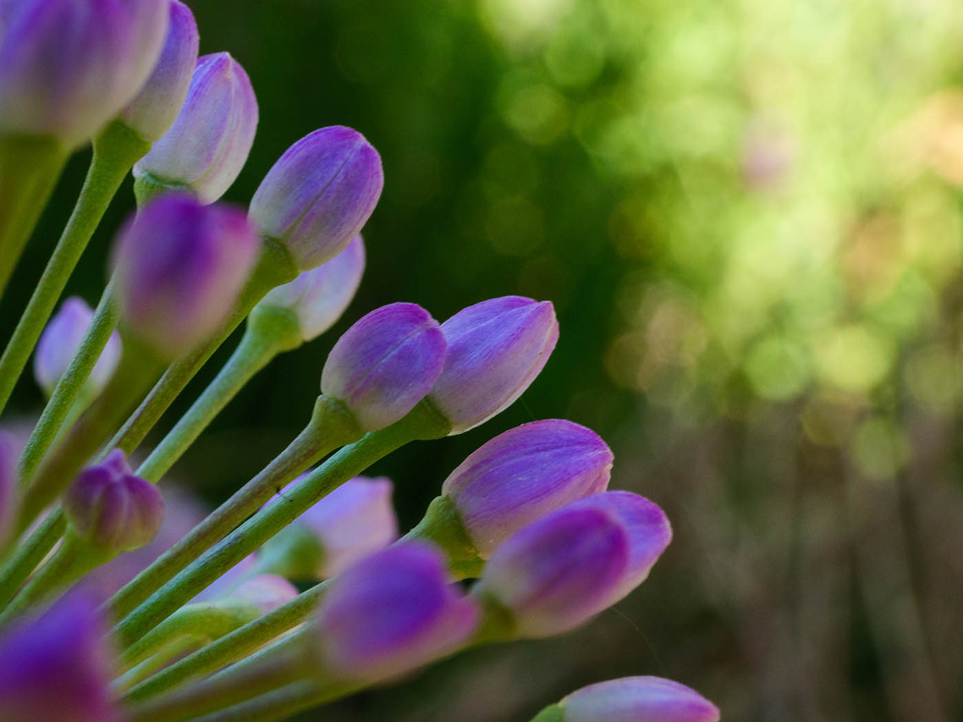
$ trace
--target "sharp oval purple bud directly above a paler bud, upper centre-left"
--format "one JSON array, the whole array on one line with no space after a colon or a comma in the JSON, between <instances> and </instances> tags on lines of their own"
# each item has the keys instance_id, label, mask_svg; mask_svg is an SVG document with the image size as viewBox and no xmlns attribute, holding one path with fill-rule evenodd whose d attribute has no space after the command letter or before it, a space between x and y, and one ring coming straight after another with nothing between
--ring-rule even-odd
<instances>
[{"instance_id":1,"label":"sharp oval purple bud directly above a paler bud, upper centre-left","mask_svg":"<svg viewBox=\"0 0 963 722\"><path fill-rule=\"evenodd\" d=\"M377 150L357 131L332 125L284 152L251 198L250 218L306 271L360 232L383 185Z\"/></svg>"}]
</instances>

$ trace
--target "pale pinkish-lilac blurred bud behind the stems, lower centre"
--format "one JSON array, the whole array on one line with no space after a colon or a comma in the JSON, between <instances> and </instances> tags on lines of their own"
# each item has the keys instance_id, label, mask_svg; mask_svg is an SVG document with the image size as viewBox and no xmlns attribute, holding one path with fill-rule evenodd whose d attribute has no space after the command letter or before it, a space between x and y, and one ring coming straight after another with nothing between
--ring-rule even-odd
<instances>
[{"instance_id":1,"label":"pale pinkish-lilac blurred bud behind the stems, lower centre","mask_svg":"<svg viewBox=\"0 0 963 722\"><path fill-rule=\"evenodd\" d=\"M385 477L346 481L266 542L257 568L302 580L340 574L398 538L391 492Z\"/></svg>"}]
</instances>

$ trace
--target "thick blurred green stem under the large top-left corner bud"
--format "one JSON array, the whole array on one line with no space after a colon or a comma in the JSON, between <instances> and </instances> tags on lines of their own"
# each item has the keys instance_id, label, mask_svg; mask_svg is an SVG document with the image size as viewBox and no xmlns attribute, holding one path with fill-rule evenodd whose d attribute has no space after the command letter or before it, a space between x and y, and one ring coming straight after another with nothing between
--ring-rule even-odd
<instances>
[{"instance_id":1,"label":"thick blurred green stem under the large top-left corner bud","mask_svg":"<svg viewBox=\"0 0 963 722\"><path fill-rule=\"evenodd\" d=\"M67 155L52 138L0 137L0 297Z\"/></svg>"}]
</instances>

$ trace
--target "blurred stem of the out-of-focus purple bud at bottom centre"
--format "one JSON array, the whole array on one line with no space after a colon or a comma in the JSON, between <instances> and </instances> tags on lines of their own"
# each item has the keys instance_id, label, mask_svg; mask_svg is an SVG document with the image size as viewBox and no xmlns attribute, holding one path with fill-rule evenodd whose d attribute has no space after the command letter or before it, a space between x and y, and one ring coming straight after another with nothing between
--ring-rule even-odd
<instances>
[{"instance_id":1,"label":"blurred stem of the out-of-focus purple bud at bottom centre","mask_svg":"<svg viewBox=\"0 0 963 722\"><path fill-rule=\"evenodd\" d=\"M264 692L295 682L308 667L303 640L294 636L273 654L231 667L225 674L177 690L127 710L130 722L173 722L214 709L229 707Z\"/></svg>"}]
</instances>

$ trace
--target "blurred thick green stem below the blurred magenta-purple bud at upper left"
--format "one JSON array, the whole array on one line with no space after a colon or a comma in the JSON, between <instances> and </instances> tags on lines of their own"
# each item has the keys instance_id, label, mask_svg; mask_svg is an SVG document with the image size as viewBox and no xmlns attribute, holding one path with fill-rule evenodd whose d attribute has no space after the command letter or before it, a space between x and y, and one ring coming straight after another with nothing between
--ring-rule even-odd
<instances>
[{"instance_id":1,"label":"blurred thick green stem below the blurred magenta-purple bud at upper left","mask_svg":"<svg viewBox=\"0 0 963 722\"><path fill-rule=\"evenodd\" d=\"M123 338L122 343L120 362L103 393L70 427L27 487L20 505L18 534L64 491L144 389L160 375L163 367L151 350L133 337Z\"/></svg>"}]
</instances>

